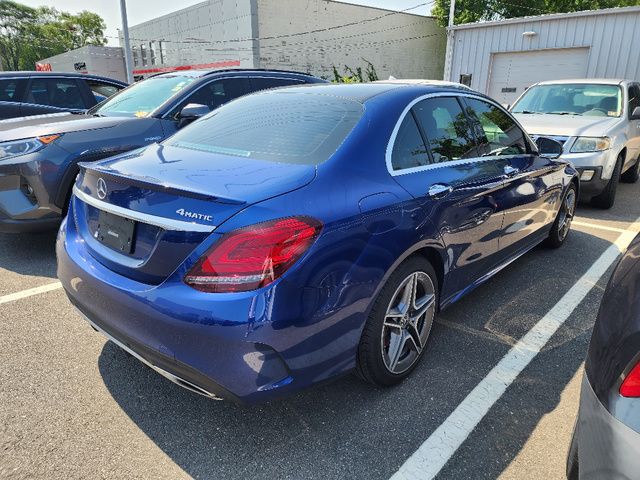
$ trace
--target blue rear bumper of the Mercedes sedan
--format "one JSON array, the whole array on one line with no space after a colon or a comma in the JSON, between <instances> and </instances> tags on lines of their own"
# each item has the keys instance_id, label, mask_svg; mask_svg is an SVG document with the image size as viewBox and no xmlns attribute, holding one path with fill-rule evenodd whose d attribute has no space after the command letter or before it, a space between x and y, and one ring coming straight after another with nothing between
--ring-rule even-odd
<instances>
[{"instance_id":1,"label":"blue rear bumper of the Mercedes sedan","mask_svg":"<svg viewBox=\"0 0 640 480\"><path fill-rule=\"evenodd\" d=\"M178 269L159 285L141 283L91 256L73 210L62 223L56 252L58 278L90 323L189 390L258 403L353 368L359 330L341 312L316 318L306 310L306 316L310 292L295 282L207 294L185 285L186 272Z\"/></svg>"}]
</instances>

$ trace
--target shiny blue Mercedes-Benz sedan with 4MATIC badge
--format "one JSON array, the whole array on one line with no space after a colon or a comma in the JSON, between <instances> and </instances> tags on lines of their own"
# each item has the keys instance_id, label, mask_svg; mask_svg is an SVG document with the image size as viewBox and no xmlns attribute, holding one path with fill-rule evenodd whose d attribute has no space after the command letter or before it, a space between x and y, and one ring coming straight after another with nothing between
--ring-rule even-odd
<instances>
[{"instance_id":1,"label":"shiny blue Mercedes-Benz sedan with 4MATIC badge","mask_svg":"<svg viewBox=\"0 0 640 480\"><path fill-rule=\"evenodd\" d=\"M560 153L454 85L253 94L83 165L58 275L94 328L209 397L393 385L440 309L563 244L579 184Z\"/></svg>"}]
</instances>

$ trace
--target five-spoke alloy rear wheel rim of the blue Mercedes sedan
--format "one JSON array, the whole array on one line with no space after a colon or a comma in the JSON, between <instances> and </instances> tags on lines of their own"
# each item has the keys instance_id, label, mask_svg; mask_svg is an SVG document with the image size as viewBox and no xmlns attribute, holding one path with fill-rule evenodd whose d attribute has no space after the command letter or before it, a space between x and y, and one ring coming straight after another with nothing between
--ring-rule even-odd
<instances>
[{"instance_id":1,"label":"five-spoke alloy rear wheel rim of the blue Mercedes sedan","mask_svg":"<svg viewBox=\"0 0 640 480\"><path fill-rule=\"evenodd\" d=\"M420 358L435 314L435 287L425 272L406 277L391 297L382 327L382 359L389 372L406 372Z\"/></svg>"}]
</instances>

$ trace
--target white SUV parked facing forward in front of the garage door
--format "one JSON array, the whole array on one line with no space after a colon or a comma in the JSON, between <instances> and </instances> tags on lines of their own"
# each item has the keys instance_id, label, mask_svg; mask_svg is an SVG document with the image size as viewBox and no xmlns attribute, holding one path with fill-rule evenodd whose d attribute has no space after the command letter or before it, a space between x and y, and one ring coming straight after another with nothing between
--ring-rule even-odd
<instances>
[{"instance_id":1,"label":"white SUV parked facing forward in front of the garage door","mask_svg":"<svg viewBox=\"0 0 640 480\"><path fill-rule=\"evenodd\" d=\"M563 159L580 172L581 198L611 208L618 181L640 176L640 84L628 80L537 83L511 108L535 138L564 144Z\"/></svg>"}]
</instances>

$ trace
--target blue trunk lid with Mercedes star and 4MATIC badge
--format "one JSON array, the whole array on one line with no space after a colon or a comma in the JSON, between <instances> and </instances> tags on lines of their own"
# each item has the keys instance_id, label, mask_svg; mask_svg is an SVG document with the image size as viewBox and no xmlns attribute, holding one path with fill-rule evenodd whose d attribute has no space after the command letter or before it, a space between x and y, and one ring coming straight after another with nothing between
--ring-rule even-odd
<instances>
[{"instance_id":1,"label":"blue trunk lid with Mercedes star and 4MATIC badge","mask_svg":"<svg viewBox=\"0 0 640 480\"><path fill-rule=\"evenodd\" d=\"M308 165L151 145L81 165L74 189L75 222L89 252L103 265L158 284L228 218L314 177L315 168ZM104 241L105 225L120 219L129 219L124 227L131 230L122 240L130 243L116 249Z\"/></svg>"}]
</instances>

